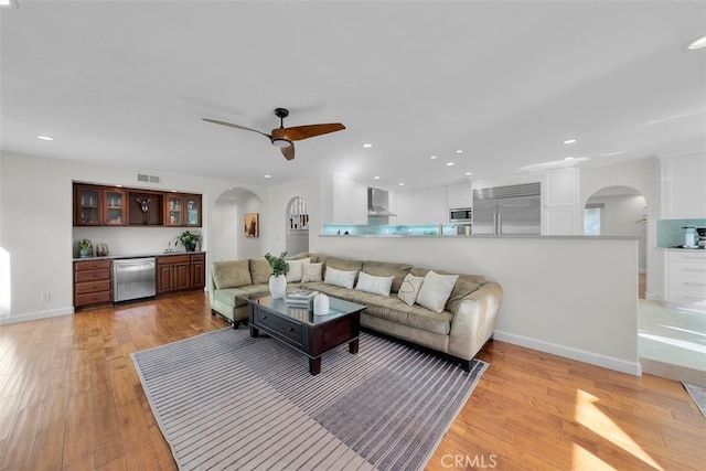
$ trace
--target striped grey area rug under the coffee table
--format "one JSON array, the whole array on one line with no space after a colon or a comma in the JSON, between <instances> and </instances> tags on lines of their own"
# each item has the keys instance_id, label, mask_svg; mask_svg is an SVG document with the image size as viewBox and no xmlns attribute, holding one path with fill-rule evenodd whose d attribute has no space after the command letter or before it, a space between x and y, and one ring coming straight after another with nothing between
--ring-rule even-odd
<instances>
[{"instance_id":1,"label":"striped grey area rug under the coffee table","mask_svg":"<svg viewBox=\"0 0 706 471\"><path fill-rule=\"evenodd\" d=\"M422 469L488 364L471 372L361 334L304 355L248 329L222 329L132 354L181 470Z\"/></svg>"}]
</instances>

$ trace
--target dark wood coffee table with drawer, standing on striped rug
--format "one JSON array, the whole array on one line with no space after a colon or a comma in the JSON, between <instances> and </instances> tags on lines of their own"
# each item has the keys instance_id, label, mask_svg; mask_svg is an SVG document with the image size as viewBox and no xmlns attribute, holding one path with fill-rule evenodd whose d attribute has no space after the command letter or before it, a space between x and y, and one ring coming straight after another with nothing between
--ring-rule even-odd
<instances>
[{"instance_id":1,"label":"dark wood coffee table with drawer, standing on striped rug","mask_svg":"<svg viewBox=\"0 0 706 471\"><path fill-rule=\"evenodd\" d=\"M344 343L357 353L363 304L329 297L330 310L314 315L306 308L291 307L284 299L252 295L245 298L250 308L250 336L260 331L309 357L309 373L321 372L321 355Z\"/></svg>"}]
</instances>

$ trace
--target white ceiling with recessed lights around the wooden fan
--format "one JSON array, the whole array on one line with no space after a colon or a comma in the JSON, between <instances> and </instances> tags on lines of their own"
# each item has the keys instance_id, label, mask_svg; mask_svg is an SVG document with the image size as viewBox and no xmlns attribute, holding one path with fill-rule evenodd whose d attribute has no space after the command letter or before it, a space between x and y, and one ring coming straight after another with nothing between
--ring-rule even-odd
<instances>
[{"instance_id":1,"label":"white ceiling with recessed lights around the wooden fan","mask_svg":"<svg viewBox=\"0 0 706 471\"><path fill-rule=\"evenodd\" d=\"M706 50L682 51L706 34L704 1L20 0L0 15L3 151L405 188L706 151ZM346 129L288 162L201 119L269 132L276 107L285 126Z\"/></svg>"}]
</instances>

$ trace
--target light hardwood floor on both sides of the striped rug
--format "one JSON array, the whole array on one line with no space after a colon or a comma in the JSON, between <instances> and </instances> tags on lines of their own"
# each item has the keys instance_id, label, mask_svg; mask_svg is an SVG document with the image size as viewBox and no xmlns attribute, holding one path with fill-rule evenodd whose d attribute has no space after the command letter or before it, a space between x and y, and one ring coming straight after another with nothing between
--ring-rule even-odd
<instances>
[{"instance_id":1,"label":"light hardwood floor on both sides of the striped rug","mask_svg":"<svg viewBox=\"0 0 706 471\"><path fill-rule=\"evenodd\" d=\"M226 325L197 292L0 327L0 469L174 470L129 354ZM429 470L704 469L680 383L503 342L480 356Z\"/></svg>"}]
</instances>

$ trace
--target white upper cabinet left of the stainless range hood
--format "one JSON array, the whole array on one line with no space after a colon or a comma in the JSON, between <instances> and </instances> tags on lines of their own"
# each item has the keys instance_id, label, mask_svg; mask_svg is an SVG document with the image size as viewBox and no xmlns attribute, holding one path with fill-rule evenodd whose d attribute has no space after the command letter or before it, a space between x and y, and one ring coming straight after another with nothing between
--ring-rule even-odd
<instances>
[{"instance_id":1,"label":"white upper cabinet left of the stainless range hood","mask_svg":"<svg viewBox=\"0 0 706 471\"><path fill-rule=\"evenodd\" d=\"M335 175L323 178L324 222L367 224L367 186Z\"/></svg>"}]
</instances>

